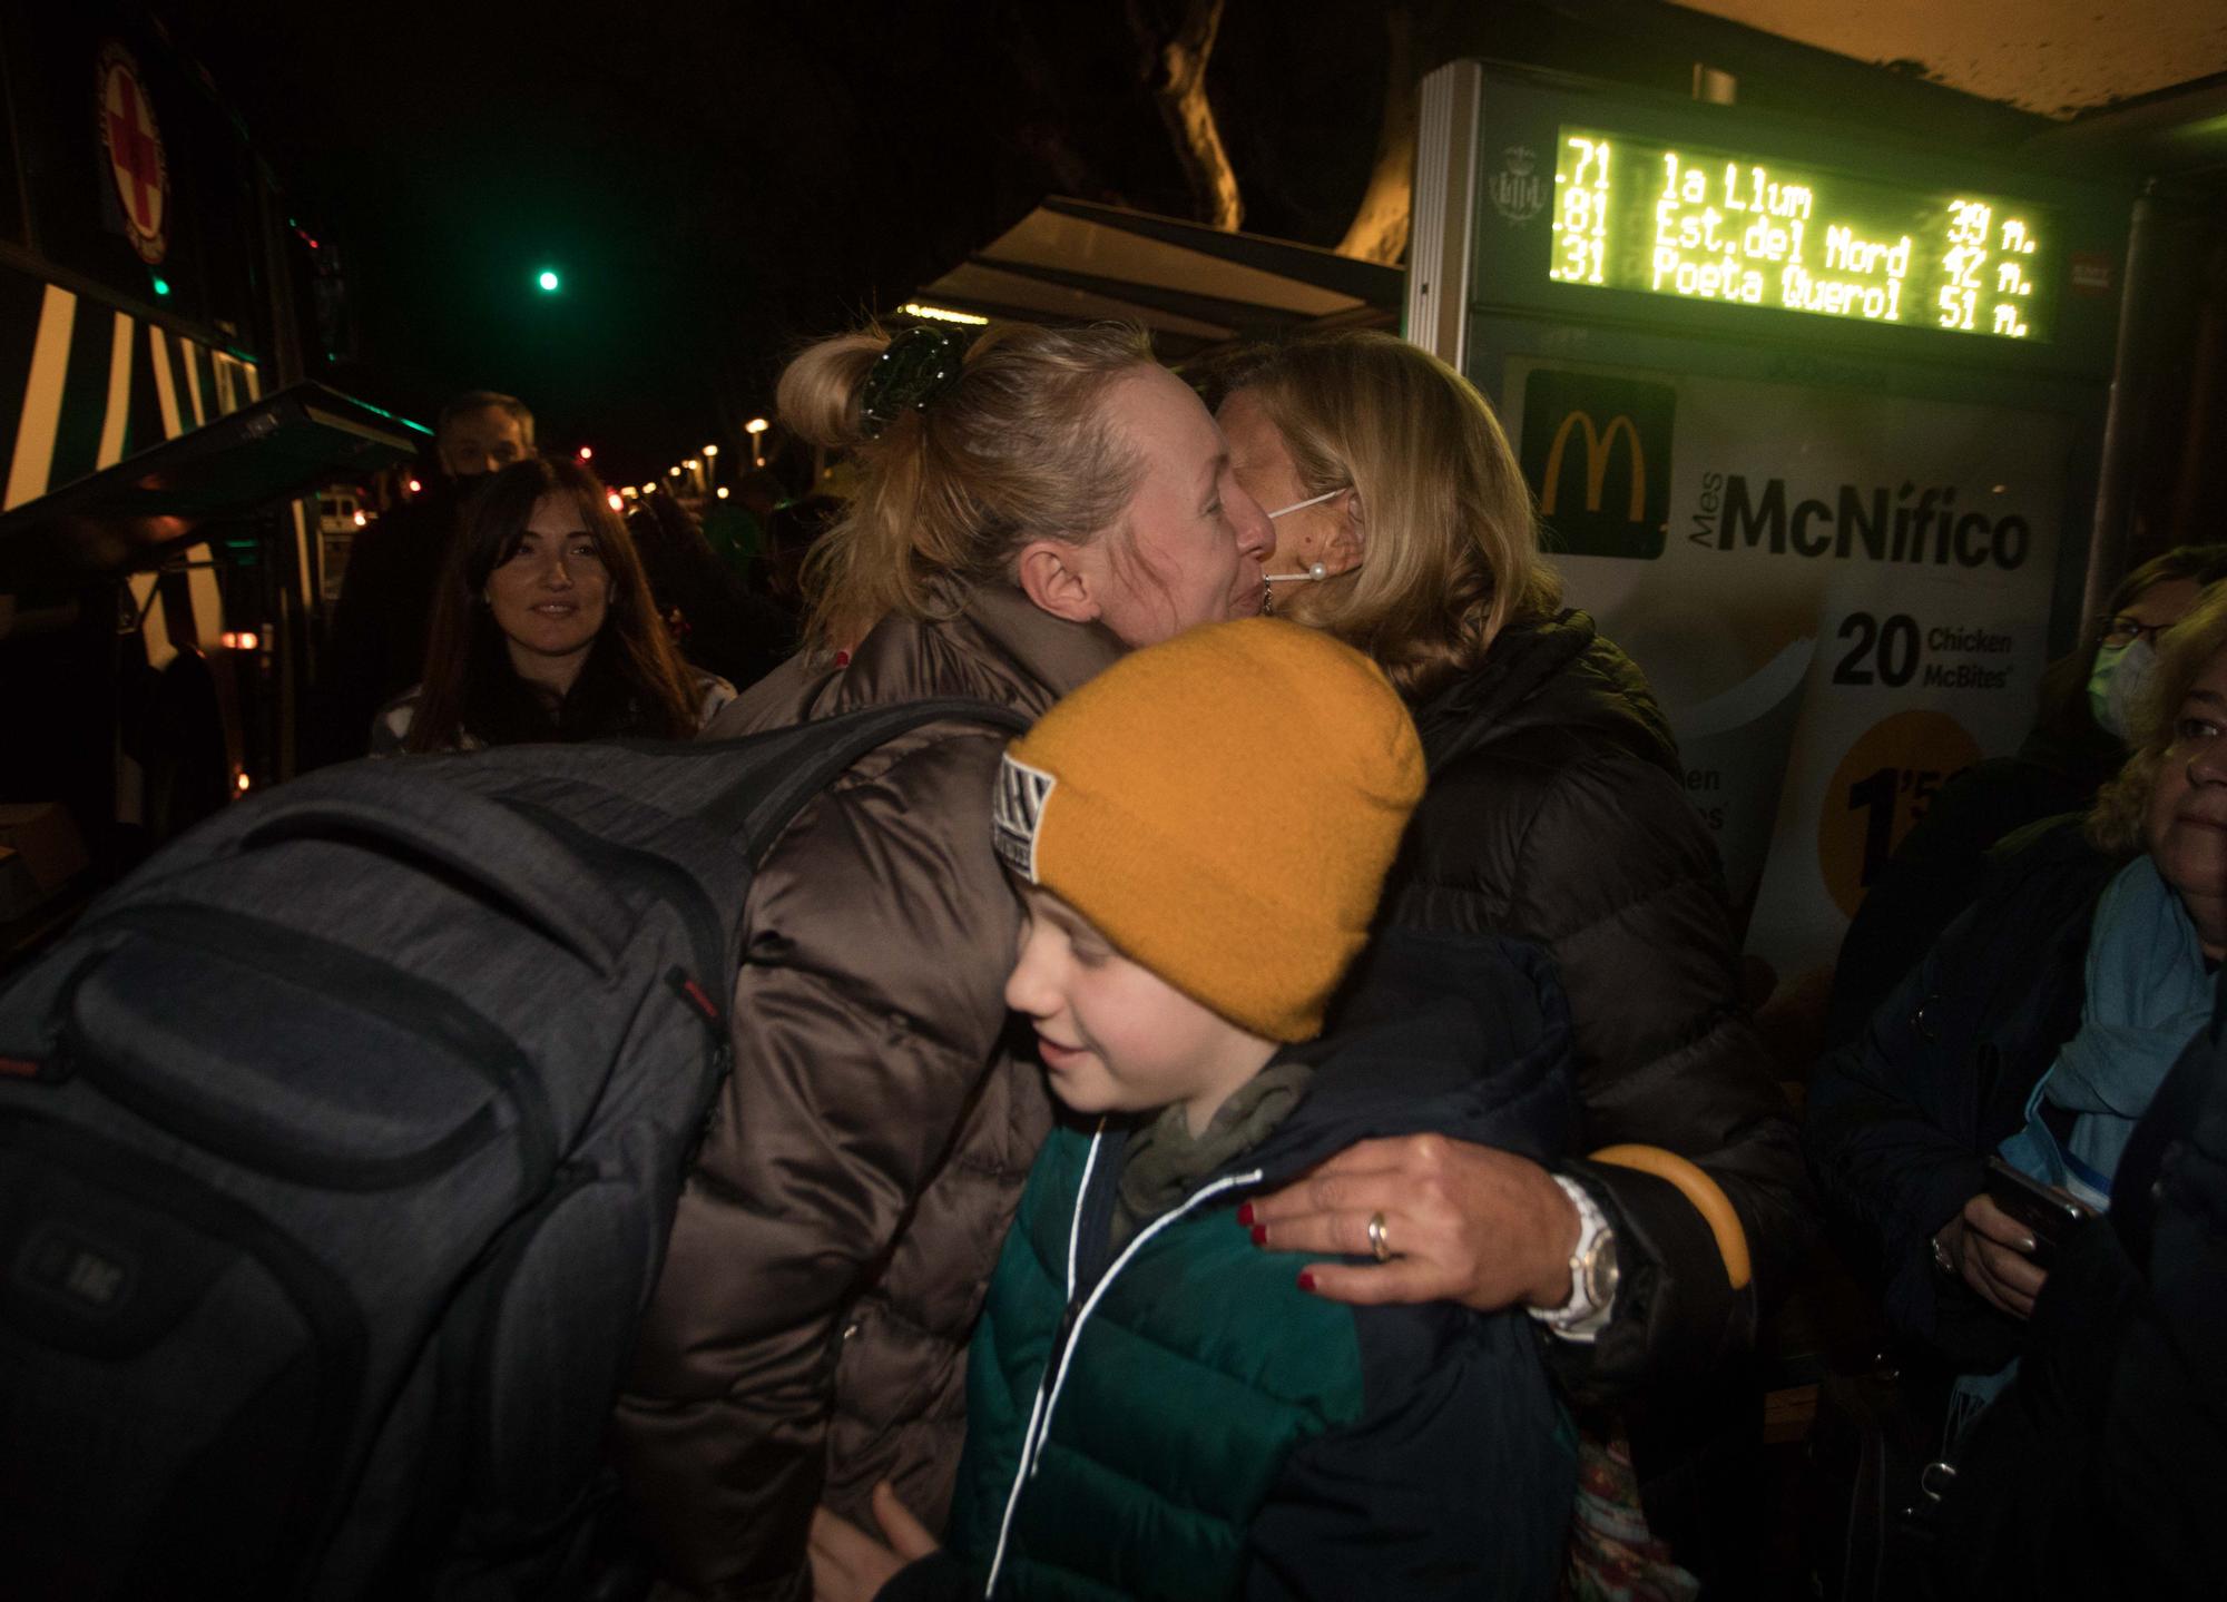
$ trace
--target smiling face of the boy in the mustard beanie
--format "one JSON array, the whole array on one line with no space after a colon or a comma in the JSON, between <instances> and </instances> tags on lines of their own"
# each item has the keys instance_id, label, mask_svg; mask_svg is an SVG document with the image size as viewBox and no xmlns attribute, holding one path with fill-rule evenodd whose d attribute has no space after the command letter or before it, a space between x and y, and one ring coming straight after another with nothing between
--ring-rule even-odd
<instances>
[{"instance_id":1,"label":"smiling face of the boy in the mustard beanie","mask_svg":"<svg viewBox=\"0 0 2227 1602\"><path fill-rule=\"evenodd\" d=\"M1122 957L1049 890L1020 888L1004 1003L1036 1026L1051 1090L1076 1112L1180 1104L1196 1135L1276 1052Z\"/></svg>"}]
</instances>

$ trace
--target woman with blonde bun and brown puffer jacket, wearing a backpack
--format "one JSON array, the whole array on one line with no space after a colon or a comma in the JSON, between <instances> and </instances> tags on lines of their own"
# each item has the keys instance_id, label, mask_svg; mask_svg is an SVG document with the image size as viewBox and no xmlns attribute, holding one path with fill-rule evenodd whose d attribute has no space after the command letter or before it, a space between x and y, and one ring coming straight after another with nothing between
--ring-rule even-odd
<instances>
[{"instance_id":1,"label":"woman with blonde bun and brown puffer jacket, wearing a backpack","mask_svg":"<svg viewBox=\"0 0 2227 1602\"><path fill-rule=\"evenodd\" d=\"M1136 329L851 334L791 363L779 412L862 483L815 543L804 650L715 736L931 696L1036 716L1125 647L1263 605L1267 518ZM804 1595L813 1509L866 1522L877 1480L944 1517L967 1335L1051 1124L1002 999L1004 741L893 739L753 883L735 1070L615 1431L670 1595Z\"/></svg>"}]
</instances>

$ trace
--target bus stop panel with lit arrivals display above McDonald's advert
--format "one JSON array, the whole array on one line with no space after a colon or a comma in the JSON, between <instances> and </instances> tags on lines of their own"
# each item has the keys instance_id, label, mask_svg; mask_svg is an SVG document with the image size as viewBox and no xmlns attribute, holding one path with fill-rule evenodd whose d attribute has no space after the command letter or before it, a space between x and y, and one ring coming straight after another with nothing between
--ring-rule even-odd
<instances>
[{"instance_id":1,"label":"bus stop panel with lit arrivals display above McDonald's advert","mask_svg":"<svg viewBox=\"0 0 2227 1602\"><path fill-rule=\"evenodd\" d=\"M1779 977L1833 963L2076 630L2131 200L1891 129L1425 80L1407 334L1497 405Z\"/></svg>"}]
</instances>

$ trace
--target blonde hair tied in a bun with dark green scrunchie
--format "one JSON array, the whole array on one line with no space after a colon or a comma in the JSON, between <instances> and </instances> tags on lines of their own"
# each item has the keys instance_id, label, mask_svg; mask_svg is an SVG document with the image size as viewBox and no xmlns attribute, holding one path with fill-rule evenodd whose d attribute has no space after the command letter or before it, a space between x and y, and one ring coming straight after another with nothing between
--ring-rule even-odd
<instances>
[{"instance_id":1,"label":"blonde hair tied in a bun with dark green scrunchie","mask_svg":"<svg viewBox=\"0 0 2227 1602\"><path fill-rule=\"evenodd\" d=\"M848 449L860 490L804 567L804 636L851 645L889 614L933 619L933 581L1011 578L1031 538L1082 543L1129 503L1142 463L1105 416L1105 392L1154 367L1131 325L982 329L958 380L877 438L860 389L891 336L880 327L820 340L782 374L782 421Z\"/></svg>"}]
</instances>

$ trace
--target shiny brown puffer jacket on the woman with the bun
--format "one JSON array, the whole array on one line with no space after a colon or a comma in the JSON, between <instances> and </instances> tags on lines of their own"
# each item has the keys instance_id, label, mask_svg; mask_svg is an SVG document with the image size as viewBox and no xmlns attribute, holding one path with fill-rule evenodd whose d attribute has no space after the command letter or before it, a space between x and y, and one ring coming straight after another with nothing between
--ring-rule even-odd
<instances>
[{"instance_id":1,"label":"shiny brown puffer jacket on the woman with the bun","mask_svg":"<svg viewBox=\"0 0 2227 1602\"><path fill-rule=\"evenodd\" d=\"M1018 590L953 590L848 668L799 656L708 736L980 696L1038 714L1111 663ZM670 1584L802 1598L824 1500L875 1480L940 1526L967 1337L1051 1126L1007 1035L1018 903L991 852L1004 730L933 723L813 801L750 888L735 1072L681 1195L615 1453Z\"/></svg>"}]
</instances>

